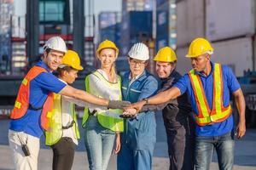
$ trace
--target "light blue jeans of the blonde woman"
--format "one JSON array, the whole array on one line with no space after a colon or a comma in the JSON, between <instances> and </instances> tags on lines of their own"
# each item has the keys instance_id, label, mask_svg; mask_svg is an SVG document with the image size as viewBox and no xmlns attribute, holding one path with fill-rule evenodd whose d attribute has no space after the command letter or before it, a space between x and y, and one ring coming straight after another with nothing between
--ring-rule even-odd
<instances>
[{"instance_id":1,"label":"light blue jeans of the blonde woman","mask_svg":"<svg viewBox=\"0 0 256 170\"><path fill-rule=\"evenodd\" d=\"M105 170L113 150L115 133L102 127L96 116L90 116L84 127L84 144L90 170Z\"/></svg>"}]
</instances>

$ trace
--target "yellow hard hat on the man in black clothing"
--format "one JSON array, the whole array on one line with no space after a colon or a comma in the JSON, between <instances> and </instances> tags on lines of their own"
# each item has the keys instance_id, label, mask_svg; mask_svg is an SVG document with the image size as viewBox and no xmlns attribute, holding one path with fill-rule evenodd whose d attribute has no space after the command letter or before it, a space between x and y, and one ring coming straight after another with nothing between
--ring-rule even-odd
<instances>
[{"instance_id":1,"label":"yellow hard hat on the man in black clothing","mask_svg":"<svg viewBox=\"0 0 256 170\"><path fill-rule=\"evenodd\" d=\"M177 56L175 52L172 50L172 48L160 48L160 50L154 57L154 61L174 62L177 61Z\"/></svg>"}]
</instances>

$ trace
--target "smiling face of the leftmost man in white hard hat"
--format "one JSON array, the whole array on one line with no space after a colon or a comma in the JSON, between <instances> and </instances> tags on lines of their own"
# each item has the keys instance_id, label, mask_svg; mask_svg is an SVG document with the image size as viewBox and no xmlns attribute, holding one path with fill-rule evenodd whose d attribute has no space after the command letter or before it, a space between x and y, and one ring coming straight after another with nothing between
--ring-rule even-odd
<instances>
[{"instance_id":1,"label":"smiling face of the leftmost man in white hard hat","mask_svg":"<svg viewBox=\"0 0 256 170\"><path fill-rule=\"evenodd\" d=\"M58 66L61 65L64 53L50 49L49 52L44 51L44 63L49 66L50 71L57 70Z\"/></svg>"}]
</instances>

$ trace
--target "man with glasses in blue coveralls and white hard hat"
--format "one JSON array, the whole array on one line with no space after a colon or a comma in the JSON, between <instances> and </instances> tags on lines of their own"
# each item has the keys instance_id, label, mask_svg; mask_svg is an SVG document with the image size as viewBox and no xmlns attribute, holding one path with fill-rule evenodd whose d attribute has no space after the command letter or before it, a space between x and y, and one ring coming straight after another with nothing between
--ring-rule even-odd
<instances>
[{"instance_id":1,"label":"man with glasses in blue coveralls and white hard hat","mask_svg":"<svg viewBox=\"0 0 256 170\"><path fill-rule=\"evenodd\" d=\"M130 71L125 72L122 77L124 100L134 103L147 99L157 92L157 80L145 70L148 59L149 52L145 44L138 42L132 46L128 53ZM151 169L155 134L154 111L142 112L136 117L125 119L118 169Z\"/></svg>"}]
</instances>

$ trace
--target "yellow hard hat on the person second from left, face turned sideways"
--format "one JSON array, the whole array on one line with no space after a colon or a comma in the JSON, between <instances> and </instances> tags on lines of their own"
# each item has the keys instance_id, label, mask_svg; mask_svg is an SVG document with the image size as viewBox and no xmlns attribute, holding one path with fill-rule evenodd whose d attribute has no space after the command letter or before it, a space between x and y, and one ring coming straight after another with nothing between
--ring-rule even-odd
<instances>
[{"instance_id":1,"label":"yellow hard hat on the person second from left, face turned sideways","mask_svg":"<svg viewBox=\"0 0 256 170\"><path fill-rule=\"evenodd\" d=\"M71 66L73 69L78 71L82 71L84 68L80 65L79 54L73 50L67 50L67 53L64 55L62 59L62 63L59 67L63 66Z\"/></svg>"}]
</instances>

